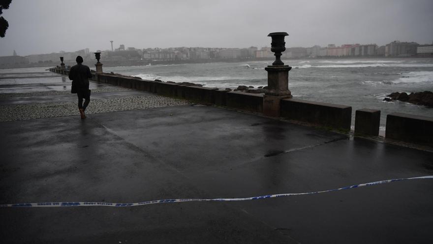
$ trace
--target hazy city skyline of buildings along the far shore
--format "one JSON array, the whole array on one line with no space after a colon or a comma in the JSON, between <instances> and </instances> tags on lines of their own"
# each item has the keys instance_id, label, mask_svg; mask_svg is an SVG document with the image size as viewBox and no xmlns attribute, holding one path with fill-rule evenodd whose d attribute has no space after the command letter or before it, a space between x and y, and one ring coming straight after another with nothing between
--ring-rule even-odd
<instances>
[{"instance_id":1,"label":"hazy city skyline of buildings along the far shore","mask_svg":"<svg viewBox=\"0 0 433 244\"><path fill-rule=\"evenodd\" d=\"M120 44L119 48L113 50L97 50L103 62L122 62L132 64L148 64L155 61L164 62L220 62L230 60L260 60L274 58L271 47L260 49L251 46L248 48L214 48L214 47L170 47L170 48L135 48L125 47ZM62 57L62 61L74 63L75 58L80 55L87 61L94 60L94 55L89 48L80 49L75 52L36 54L28 56L1 56L0 68L37 64L55 64ZM324 57L433 57L433 44L419 45L416 42L392 41L385 46L376 44L343 44L336 46L328 44L326 47L315 45L313 47L287 47L281 58L303 59Z\"/></svg>"}]
</instances>

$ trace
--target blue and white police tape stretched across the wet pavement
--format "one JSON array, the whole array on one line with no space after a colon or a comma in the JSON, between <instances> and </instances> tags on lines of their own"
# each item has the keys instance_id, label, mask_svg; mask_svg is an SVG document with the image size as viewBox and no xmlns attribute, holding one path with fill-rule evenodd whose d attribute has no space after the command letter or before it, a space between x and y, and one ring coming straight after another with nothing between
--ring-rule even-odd
<instances>
[{"instance_id":1,"label":"blue and white police tape stretched across the wet pavement","mask_svg":"<svg viewBox=\"0 0 433 244\"><path fill-rule=\"evenodd\" d=\"M164 199L164 200L154 200L154 201L141 202L141 203L96 203L96 202L26 203L26 204L2 204L2 205L0 205L0 208L6 208L6 207L48 208L48 207L82 207L82 206L132 207L132 206L160 204L160 203L209 202L209 201L248 201L248 200L256 200L256 199L267 199L267 198L276 198L276 197L288 197L288 196L296 196L296 195L309 195L309 194L325 193L325 192L346 190L346 189L358 188L358 187L363 187L363 186L379 185L379 184L385 184L385 183L402 181L402 180L411 180L411 179L433 179L433 175L419 176L419 177L412 177L412 178L380 180L380 181L351 185L351 186L341 187L338 189L324 190L324 191L314 191L314 192L304 192L304 193L285 193L285 194L264 195L264 196L258 196L258 197L247 197L247 198Z\"/></svg>"}]
</instances>

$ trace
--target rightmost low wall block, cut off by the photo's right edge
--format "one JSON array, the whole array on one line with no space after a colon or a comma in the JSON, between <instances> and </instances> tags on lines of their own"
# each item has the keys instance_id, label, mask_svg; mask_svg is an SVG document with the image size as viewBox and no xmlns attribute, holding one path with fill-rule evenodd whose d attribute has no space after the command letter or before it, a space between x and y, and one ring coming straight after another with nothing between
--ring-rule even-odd
<instances>
[{"instance_id":1,"label":"rightmost low wall block, cut off by the photo's right edge","mask_svg":"<svg viewBox=\"0 0 433 244\"><path fill-rule=\"evenodd\" d=\"M433 146L433 118L407 113L388 114L385 137Z\"/></svg>"}]
</instances>

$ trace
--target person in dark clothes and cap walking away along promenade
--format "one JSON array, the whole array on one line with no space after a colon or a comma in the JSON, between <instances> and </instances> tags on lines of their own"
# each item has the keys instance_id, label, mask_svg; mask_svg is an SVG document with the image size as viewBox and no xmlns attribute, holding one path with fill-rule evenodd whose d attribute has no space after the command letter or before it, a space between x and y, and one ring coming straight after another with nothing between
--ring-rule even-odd
<instances>
[{"instance_id":1,"label":"person in dark clothes and cap walking away along promenade","mask_svg":"<svg viewBox=\"0 0 433 244\"><path fill-rule=\"evenodd\" d=\"M77 65L72 66L69 70L69 79L72 80L71 93L77 93L78 110L80 110L81 119L84 119L86 118L84 111L90 103L89 78L92 78L92 73L88 66L83 65L81 56L77 56L75 61L77 61ZM84 104L83 98L86 100Z\"/></svg>"}]
</instances>

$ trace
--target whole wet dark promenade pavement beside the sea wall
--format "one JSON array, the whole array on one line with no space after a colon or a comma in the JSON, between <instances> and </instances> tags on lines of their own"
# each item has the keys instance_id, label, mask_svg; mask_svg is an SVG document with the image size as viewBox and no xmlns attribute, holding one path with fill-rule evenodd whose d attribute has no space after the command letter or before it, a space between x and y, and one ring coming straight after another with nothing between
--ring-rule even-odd
<instances>
[{"instance_id":1,"label":"whole wet dark promenade pavement beside the sea wall","mask_svg":"<svg viewBox=\"0 0 433 244\"><path fill-rule=\"evenodd\" d=\"M242 198L433 174L431 152L97 83L81 120L70 82L39 76L5 86L0 75L0 204ZM427 244L432 189L423 179L245 202L0 208L1 241Z\"/></svg>"}]
</instances>

